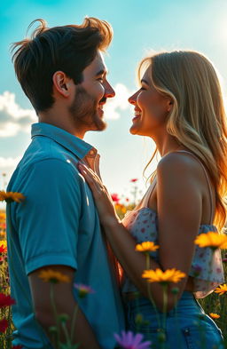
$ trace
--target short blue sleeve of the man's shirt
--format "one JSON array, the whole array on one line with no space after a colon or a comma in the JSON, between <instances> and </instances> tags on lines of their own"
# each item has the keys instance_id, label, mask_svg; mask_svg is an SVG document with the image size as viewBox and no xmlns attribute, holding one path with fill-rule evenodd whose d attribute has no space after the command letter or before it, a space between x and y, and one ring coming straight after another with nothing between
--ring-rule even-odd
<instances>
[{"instance_id":1,"label":"short blue sleeve of the man's shirt","mask_svg":"<svg viewBox=\"0 0 227 349\"><path fill-rule=\"evenodd\" d=\"M58 159L35 163L27 171L21 191L26 199L16 212L27 274L42 266L77 268L80 181L74 165Z\"/></svg>"}]
</instances>

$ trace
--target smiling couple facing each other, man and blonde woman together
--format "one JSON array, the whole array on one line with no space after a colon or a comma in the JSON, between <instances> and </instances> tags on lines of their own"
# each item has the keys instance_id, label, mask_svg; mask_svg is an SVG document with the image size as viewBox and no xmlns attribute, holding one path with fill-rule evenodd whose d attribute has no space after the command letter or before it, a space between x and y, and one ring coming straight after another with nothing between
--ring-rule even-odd
<instances>
[{"instance_id":1,"label":"smiling couple facing each other, man and blonde woman together","mask_svg":"<svg viewBox=\"0 0 227 349\"><path fill-rule=\"evenodd\" d=\"M162 288L150 284L154 307L141 277L146 258L135 250L150 241L160 246L150 253L150 269L186 274L168 285L166 347L180 341L183 349L199 349L199 318L206 348L218 347L220 330L195 297L223 282L220 251L213 256L194 248L195 237L221 230L226 216L227 128L215 69L198 52L163 52L140 63L141 86L129 97L135 107L130 132L151 137L161 160L142 201L120 221L99 177L97 150L83 140L86 131L106 128L103 107L114 90L102 52L112 36L111 26L95 18L57 28L40 20L31 39L14 44L16 75L39 122L7 188L26 197L7 205L13 344L55 347L50 283L40 278L51 268L70 280L55 285L54 298L58 312L69 315L68 329L79 305L74 343L80 348L117 348L114 333L125 326L136 332L137 313L146 321L139 332L160 347ZM124 271L121 286L114 256ZM74 283L95 293L81 299Z\"/></svg>"}]
</instances>

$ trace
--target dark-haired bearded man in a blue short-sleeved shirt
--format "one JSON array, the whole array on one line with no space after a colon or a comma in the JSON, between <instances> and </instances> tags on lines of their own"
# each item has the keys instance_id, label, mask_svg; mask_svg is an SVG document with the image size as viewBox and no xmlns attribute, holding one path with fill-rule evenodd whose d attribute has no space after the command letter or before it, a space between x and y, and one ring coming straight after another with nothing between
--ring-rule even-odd
<instances>
[{"instance_id":1,"label":"dark-haired bearded man in a blue short-sleeved shirt","mask_svg":"<svg viewBox=\"0 0 227 349\"><path fill-rule=\"evenodd\" d=\"M106 80L102 52L112 40L112 28L95 18L56 28L39 21L32 39L13 46L16 75L39 119L7 188L26 198L7 206L16 300L13 344L56 347L50 332L56 325L51 282L40 277L51 268L70 280L54 284L52 296L57 313L69 317L68 331L74 326L73 343L82 349L113 349L114 332L124 325L121 298L90 189L77 171L82 161L98 172L97 150L82 139L86 131L106 128L103 106L114 90ZM94 293L81 299L74 283L89 285Z\"/></svg>"}]
</instances>

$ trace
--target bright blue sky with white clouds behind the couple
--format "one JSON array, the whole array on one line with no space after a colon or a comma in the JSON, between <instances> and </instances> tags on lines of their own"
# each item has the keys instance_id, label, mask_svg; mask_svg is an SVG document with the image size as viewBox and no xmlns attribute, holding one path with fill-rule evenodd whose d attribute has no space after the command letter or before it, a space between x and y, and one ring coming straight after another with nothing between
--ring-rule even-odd
<instances>
[{"instance_id":1,"label":"bright blue sky with white clouds behind the couple","mask_svg":"<svg viewBox=\"0 0 227 349\"><path fill-rule=\"evenodd\" d=\"M35 121L32 107L17 82L9 47L26 36L29 23L47 20L49 27L81 23L84 16L109 21L114 41L106 56L115 101L106 107L108 128L90 132L85 140L98 148L101 171L112 193L128 194L130 178L145 189L143 168L153 142L129 134L133 108L127 98L136 86L136 67L149 50L190 49L211 59L227 86L227 2L225 0L9 0L0 4L0 174L7 179L23 155ZM7 91L7 92L6 92ZM4 186L0 178L0 188Z\"/></svg>"}]
</instances>

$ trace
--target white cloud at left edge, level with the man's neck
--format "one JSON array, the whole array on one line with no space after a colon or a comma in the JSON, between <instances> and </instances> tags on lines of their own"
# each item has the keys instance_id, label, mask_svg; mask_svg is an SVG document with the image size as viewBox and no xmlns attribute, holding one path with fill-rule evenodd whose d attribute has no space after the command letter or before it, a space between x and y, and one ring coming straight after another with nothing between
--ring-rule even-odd
<instances>
[{"instance_id":1,"label":"white cloud at left edge, level with the man's neck","mask_svg":"<svg viewBox=\"0 0 227 349\"><path fill-rule=\"evenodd\" d=\"M37 117L32 109L23 109L15 101L15 94L4 91L0 95L0 137L12 137L20 131L29 132Z\"/></svg>"}]
</instances>

